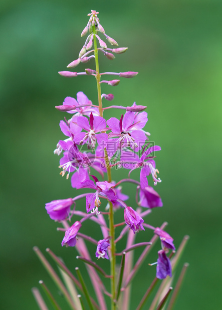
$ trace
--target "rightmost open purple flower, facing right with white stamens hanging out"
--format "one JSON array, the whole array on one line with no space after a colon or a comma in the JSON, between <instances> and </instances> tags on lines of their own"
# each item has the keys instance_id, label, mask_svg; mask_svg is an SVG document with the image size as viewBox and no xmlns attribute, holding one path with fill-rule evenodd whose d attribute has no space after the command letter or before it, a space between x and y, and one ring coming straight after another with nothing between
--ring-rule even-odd
<instances>
[{"instance_id":1,"label":"rightmost open purple flower, facing right with white stamens hanging out","mask_svg":"<svg viewBox=\"0 0 222 310\"><path fill-rule=\"evenodd\" d=\"M131 170L129 171L130 173L137 169L141 168L140 170L140 185L141 188L145 188L148 186L148 181L147 181L147 175L152 174L154 185L157 184L157 182L161 182L161 179L158 177L157 174L159 171L155 168L155 161L151 158L153 156L150 156L152 152L155 152L157 150L161 150L161 147L158 145L154 145L149 147L146 151L144 151L145 147L143 148L143 152L141 157L139 157L137 154L129 152L128 150L124 150L122 152L121 156L121 161L122 162L127 162L129 163L127 166L125 165L126 168L130 168ZM132 158L130 161L130 157Z\"/></svg>"}]
</instances>

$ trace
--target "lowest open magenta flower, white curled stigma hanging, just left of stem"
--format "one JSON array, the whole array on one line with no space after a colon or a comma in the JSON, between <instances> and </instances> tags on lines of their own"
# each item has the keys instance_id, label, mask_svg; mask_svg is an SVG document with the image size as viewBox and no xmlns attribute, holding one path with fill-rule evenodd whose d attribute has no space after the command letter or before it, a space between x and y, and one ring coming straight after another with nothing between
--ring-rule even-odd
<instances>
[{"instance_id":1,"label":"lowest open magenta flower, white curled stigma hanging, just left of stem","mask_svg":"<svg viewBox=\"0 0 222 310\"><path fill-rule=\"evenodd\" d=\"M94 181L86 179L85 181L78 183L76 185L76 188L93 188L96 190L94 194L88 194L86 196L86 211L91 211L92 213L96 212L96 214L99 214L100 212L98 212L98 208L101 205L99 195L107 197L108 200L112 203L116 202L116 192L113 188L111 188L115 185L115 183L111 183L108 181L99 181L96 176L91 176L95 180L96 184L94 183Z\"/></svg>"}]
</instances>

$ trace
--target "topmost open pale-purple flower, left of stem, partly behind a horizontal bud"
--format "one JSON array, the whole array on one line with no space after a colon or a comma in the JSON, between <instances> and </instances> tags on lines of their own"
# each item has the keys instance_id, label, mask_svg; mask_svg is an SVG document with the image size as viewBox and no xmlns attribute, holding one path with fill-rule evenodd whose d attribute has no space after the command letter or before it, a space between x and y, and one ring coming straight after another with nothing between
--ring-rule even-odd
<instances>
[{"instance_id":1,"label":"topmost open pale-purple flower, left of stem, partly behind a horizontal bud","mask_svg":"<svg viewBox=\"0 0 222 310\"><path fill-rule=\"evenodd\" d=\"M92 112L93 115L99 115L99 111L98 108L91 106L92 105L92 101L88 99L88 97L85 95L85 93L83 93L82 91L77 92L76 94L77 100L73 97L66 97L63 105L75 105L76 108L71 110L71 111L67 111L67 113L75 113L75 116L83 116L83 115L87 115L89 116L90 113ZM78 107L78 105L84 105L84 104L89 104L89 106L82 106L82 107Z\"/></svg>"}]
</instances>

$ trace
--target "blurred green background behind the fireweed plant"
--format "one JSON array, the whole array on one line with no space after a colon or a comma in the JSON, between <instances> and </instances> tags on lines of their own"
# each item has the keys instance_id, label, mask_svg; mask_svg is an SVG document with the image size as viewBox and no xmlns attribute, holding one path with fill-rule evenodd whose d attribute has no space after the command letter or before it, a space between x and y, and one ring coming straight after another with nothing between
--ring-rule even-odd
<instances>
[{"instance_id":1,"label":"blurred green background behind the fireweed plant","mask_svg":"<svg viewBox=\"0 0 222 310\"><path fill-rule=\"evenodd\" d=\"M115 60L101 57L101 71L139 71L133 79L122 78L117 87L105 85L103 92L115 95L113 104L147 105L146 129L162 147L156 160L162 183L155 189L164 206L147 220L156 226L168 221L166 230L176 247L190 235L179 268L185 261L190 266L175 309L222 308L222 2L2 0L1 309L38 309L31 287L40 279L63 304L34 245L42 251L49 246L72 270L82 266L75 248L61 247L63 233L56 231L45 203L75 195L70 181L59 175L59 158L53 154L63 138L59 121L65 115L54 106L80 90L96 102L96 85L93 77L67 79L57 71L78 57L84 43L80 33L91 9L100 12L106 33L129 47ZM85 67L94 68L93 61L77 70ZM134 195L134 186L125 188ZM79 207L85 208L84 200ZM83 232L93 230L99 239L100 230L91 225L84 225ZM137 240L147 240L146 234L140 232ZM148 262L156 260L159 248L156 245L136 277L131 310L155 275ZM90 250L95 248L90 245ZM107 261L101 265L108 268ZM89 280L88 286L93 291Z\"/></svg>"}]
</instances>

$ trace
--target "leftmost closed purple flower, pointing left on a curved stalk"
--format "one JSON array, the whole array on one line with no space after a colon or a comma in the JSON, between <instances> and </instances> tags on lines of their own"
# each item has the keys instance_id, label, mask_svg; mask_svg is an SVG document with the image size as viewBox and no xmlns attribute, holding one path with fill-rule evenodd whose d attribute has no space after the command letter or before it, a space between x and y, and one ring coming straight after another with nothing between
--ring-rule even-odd
<instances>
[{"instance_id":1,"label":"leftmost closed purple flower, pointing left on a curved stalk","mask_svg":"<svg viewBox=\"0 0 222 310\"><path fill-rule=\"evenodd\" d=\"M72 204L72 198L53 200L46 203L46 210L52 219L62 220L69 216L70 207Z\"/></svg>"}]
</instances>

